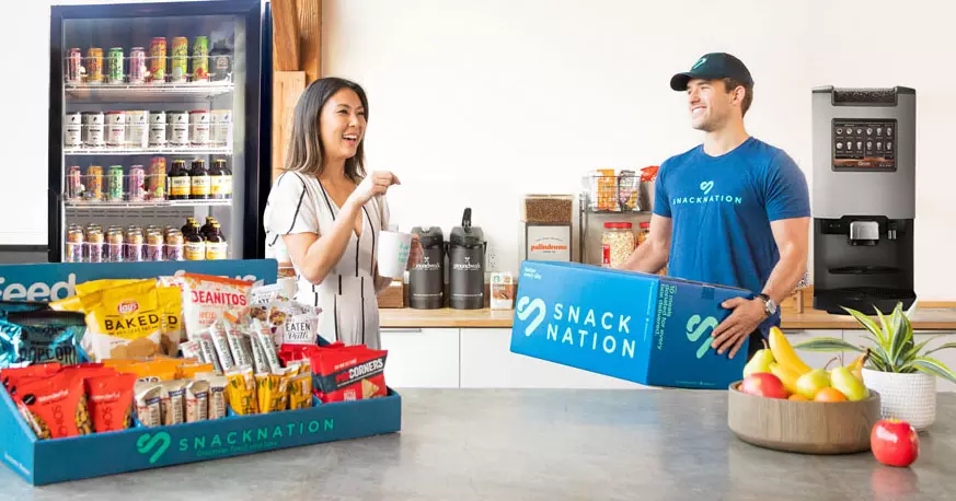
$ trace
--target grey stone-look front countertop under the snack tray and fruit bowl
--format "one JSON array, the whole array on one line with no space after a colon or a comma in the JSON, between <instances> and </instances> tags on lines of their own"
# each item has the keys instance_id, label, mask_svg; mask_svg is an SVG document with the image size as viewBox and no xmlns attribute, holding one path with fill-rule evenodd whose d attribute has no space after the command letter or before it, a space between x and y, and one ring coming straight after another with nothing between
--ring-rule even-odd
<instances>
[{"instance_id":1,"label":"grey stone-look front countertop under the snack tray and fruit bowl","mask_svg":"<svg viewBox=\"0 0 956 501\"><path fill-rule=\"evenodd\" d=\"M956 395L911 468L759 448L707 391L402 392L400 433L33 488L0 500L948 500Z\"/></svg>"}]
</instances>

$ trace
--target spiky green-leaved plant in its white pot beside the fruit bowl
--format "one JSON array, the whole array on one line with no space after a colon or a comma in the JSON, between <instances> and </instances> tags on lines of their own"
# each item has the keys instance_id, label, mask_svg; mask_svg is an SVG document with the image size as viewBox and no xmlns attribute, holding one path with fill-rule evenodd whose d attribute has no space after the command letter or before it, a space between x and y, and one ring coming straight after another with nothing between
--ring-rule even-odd
<instances>
[{"instance_id":1,"label":"spiky green-leaved plant in its white pot beside the fruit bowl","mask_svg":"<svg viewBox=\"0 0 956 501\"><path fill-rule=\"evenodd\" d=\"M956 348L956 342L946 342L928 349L940 336L915 342L913 327L897 303L887 317L876 310L879 323L852 308L844 307L863 326L869 346L855 346L842 339L820 337L794 345L807 351L856 351L867 352L863 366L863 384L879 394L884 418L909 421L917 430L923 430L936 419L936 377L956 383L956 374L934 352Z\"/></svg>"}]
</instances>

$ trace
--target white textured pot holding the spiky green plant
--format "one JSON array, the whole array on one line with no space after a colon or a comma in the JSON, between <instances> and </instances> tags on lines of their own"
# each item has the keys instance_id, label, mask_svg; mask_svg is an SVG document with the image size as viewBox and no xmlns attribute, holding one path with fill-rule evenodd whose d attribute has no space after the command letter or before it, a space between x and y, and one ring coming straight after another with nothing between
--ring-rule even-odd
<instances>
[{"instance_id":1,"label":"white textured pot holding the spiky green plant","mask_svg":"<svg viewBox=\"0 0 956 501\"><path fill-rule=\"evenodd\" d=\"M883 417L900 419L917 430L936 420L936 377L922 372L898 374L863 369L863 384L879 394Z\"/></svg>"}]
</instances>

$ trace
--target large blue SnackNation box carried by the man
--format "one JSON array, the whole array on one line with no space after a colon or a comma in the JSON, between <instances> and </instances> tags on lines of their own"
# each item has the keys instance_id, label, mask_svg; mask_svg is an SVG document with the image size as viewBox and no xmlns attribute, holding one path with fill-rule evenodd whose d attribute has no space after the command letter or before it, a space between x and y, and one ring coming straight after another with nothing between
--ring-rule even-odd
<instances>
[{"instance_id":1,"label":"large blue SnackNation box carried by the man","mask_svg":"<svg viewBox=\"0 0 956 501\"><path fill-rule=\"evenodd\" d=\"M711 348L742 289L576 263L523 261L511 351L650 386L726 389L741 377Z\"/></svg>"}]
</instances>

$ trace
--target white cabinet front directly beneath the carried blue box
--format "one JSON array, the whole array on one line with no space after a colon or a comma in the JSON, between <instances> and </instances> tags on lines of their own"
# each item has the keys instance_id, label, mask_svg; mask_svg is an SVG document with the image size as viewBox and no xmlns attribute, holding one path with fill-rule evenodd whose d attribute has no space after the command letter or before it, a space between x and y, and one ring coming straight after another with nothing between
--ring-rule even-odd
<instances>
[{"instance_id":1,"label":"white cabinet front directly beneath the carried blue box","mask_svg":"<svg viewBox=\"0 0 956 501\"><path fill-rule=\"evenodd\" d=\"M463 388L644 388L636 383L512 353L511 329L461 329Z\"/></svg>"}]
</instances>

